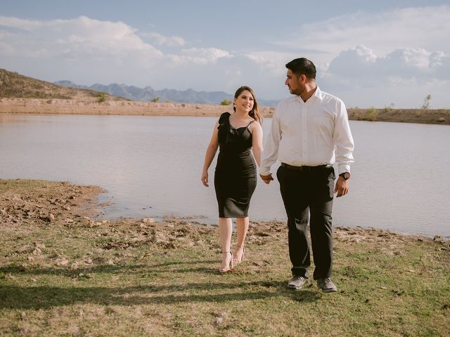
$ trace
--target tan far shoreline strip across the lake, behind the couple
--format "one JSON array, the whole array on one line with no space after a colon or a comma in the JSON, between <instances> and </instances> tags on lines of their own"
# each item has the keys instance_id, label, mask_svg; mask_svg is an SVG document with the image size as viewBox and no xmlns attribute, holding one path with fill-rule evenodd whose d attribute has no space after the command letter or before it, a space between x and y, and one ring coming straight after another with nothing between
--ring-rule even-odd
<instances>
[{"instance_id":1,"label":"tan far shoreline strip across the lake, behind the couple","mask_svg":"<svg viewBox=\"0 0 450 337\"><path fill-rule=\"evenodd\" d=\"M85 114L141 115L179 117L218 117L231 112L231 105L191 103L153 103L129 100L62 100L40 98L0 98L0 114ZM259 107L264 118L271 118L275 107ZM393 121L419 124L450 125L448 109L347 108L350 120Z\"/></svg>"}]
</instances>

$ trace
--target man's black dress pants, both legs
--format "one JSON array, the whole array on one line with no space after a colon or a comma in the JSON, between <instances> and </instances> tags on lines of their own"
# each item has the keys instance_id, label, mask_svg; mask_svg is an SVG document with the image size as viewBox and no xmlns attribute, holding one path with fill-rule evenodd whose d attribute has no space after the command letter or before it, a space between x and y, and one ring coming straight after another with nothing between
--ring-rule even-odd
<instances>
[{"instance_id":1,"label":"man's black dress pants, both legs","mask_svg":"<svg viewBox=\"0 0 450 337\"><path fill-rule=\"evenodd\" d=\"M331 228L335 171L333 166L281 164L276 176L288 215L289 256L293 275L309 277L311 265L307 225L311 233L314 279L330 277L333 270ZM310 220L309 220L310 218Z\"/></svg>"}]
</instances>

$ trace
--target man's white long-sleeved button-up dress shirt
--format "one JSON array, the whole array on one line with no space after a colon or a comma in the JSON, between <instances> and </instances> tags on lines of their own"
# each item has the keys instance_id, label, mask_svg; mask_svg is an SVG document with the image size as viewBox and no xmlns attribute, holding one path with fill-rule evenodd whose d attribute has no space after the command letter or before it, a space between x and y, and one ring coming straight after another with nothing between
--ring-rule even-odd
<instances>
[{"instance_id":1,"label":"man's white long-sleeved button-up dress shirt","mask_svg":"<svg viewBox=\"0 0 450 337\"><path fill-rule=\"evenodd\" d=\"M347 110L339 98L316 88L306 102L300 96L282 100L274 112L259 173L270 174L279 159L293 166L338 163L338 174L350 172L354 143Z\"/></svg>"}]
</instances>

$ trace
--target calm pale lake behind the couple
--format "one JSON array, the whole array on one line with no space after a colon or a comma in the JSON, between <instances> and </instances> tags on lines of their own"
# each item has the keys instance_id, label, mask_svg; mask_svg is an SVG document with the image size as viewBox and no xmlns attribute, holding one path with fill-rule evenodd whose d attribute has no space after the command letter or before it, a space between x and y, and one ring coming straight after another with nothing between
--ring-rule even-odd
<instances>
[{"instance_id":1,"label":"calm pale lake behind the couple","mask_svg":"<svg viewBox=\"0 0 450 337\"><path fill-rule=\"evenodd\" d=\"M200 182L214 117L0 114L0 178L98 185L105 217L217 222ZM271 119L264 119L268 133ZM350 121L355 163L333 224L450 236L450 126ZM210 168L214 178L215 160ZM276 171L276 166L272 171ZM250 220L285 220L278 183L258 181Z\"/></svg>"}]
</instances>

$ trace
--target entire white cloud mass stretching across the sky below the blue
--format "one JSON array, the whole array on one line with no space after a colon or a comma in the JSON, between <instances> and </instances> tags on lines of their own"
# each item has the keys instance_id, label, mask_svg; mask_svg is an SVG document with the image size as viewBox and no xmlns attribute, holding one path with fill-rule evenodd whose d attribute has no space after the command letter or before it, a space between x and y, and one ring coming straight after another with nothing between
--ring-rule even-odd
<instances>
[{"instance_id":1,"label":"entire white cloud mass stretching across the sky below the blue","mask_svg":"<svg viewBox=\"0 0 450 337\"><path fill-rule=\"evenodd\" d=\"M0 58L1 67L49 81L229 93L249 85L259 98L278 99L288 95L285 63L304 56L316 64L319 86L350 106L418 107L428 93L433 105L449 106L448 17L450 6L360 12L302 25L273 50L249 44L236 52L85 16L0 16Z\"/></svg>"}]
</instances>

